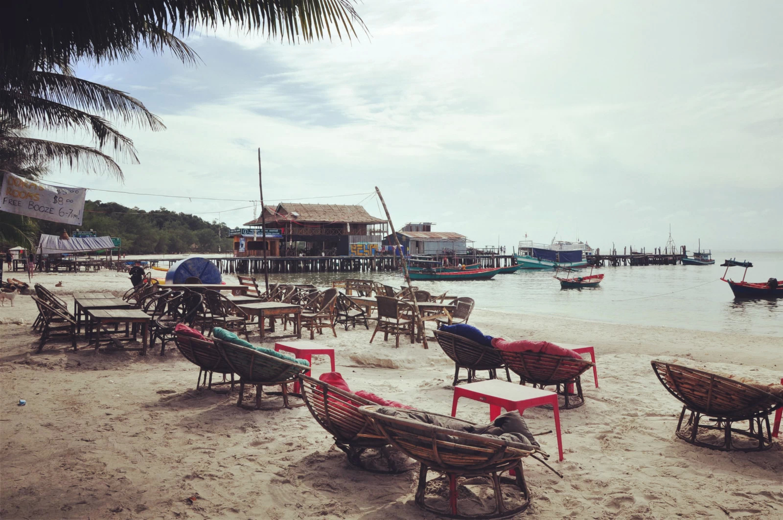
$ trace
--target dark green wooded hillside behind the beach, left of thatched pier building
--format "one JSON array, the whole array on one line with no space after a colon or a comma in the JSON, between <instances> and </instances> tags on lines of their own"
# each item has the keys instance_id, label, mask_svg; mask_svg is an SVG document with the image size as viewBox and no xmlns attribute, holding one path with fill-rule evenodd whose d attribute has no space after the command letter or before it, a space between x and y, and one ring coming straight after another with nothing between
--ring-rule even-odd
<instances>
[{"instance_id":1,"label":"dark green wooded hillside behind the beach, left of thatched pier building","mask_svg":"<svg viewBox=\"0 0 783 520\"><path fill-rule=\"evenodd\" d=\"M38 220L38 226L41 233L63 232L63 224L57 222ZM233 251L229 228L222 222L207 222L166 208L144 211L116 202L87 200L81 227L68 228L69 234L76 229L92 229L99 237L120 237L121 252L128 255L216 253L218 245L221 251Z\"/></svg>"}]
</instances>

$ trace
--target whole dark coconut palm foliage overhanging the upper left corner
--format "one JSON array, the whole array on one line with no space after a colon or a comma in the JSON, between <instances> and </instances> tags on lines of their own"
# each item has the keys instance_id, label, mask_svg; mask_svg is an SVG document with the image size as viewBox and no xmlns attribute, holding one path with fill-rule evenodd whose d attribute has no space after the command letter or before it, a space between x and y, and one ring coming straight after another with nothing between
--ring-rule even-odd
<instances>
[{"instance_id":1,"label":"whole dark coconut palm foliage overhanging the upper left corner","mask_svg":"<svg viewBox=\"0 0 783 520\"><path fill-rule=\"evenodd\" d=\"M162 122L125 92L74 77L78 60L108 63L168 50L183 63L197 54L175 34L236 26L288 42L356 36L364 28L351 0L24 0L0 2L0 117L44 131L87 130L95 146L0 135L34 161L84 165L121 178L104 150L138 162L116 117L153 131Z\"/></svg>"}]
</instances>

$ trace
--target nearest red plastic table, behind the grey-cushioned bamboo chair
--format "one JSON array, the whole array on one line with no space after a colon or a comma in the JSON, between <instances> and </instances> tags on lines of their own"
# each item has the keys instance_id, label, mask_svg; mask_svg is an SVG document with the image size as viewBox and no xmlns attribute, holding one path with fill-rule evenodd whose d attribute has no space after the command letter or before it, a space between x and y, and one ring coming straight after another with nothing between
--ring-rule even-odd
<instances>
[{"instance_id":1,"label":"nearest red plastic table, behind the grey-cushioned bamboo chair","mask_svg":"<svg viewBox=\"0 0 783 520\"><path fill-rule=\"evenodd\" d=\"M557 407L557 394L532 386L516 385L500 379L490 379L489 381L478 381L454 387L454 399L451 405L451 416L456 417L456 402L460 397L467 397L474 401L489 403L489 419L495 420L500 415L500 408L503 407L507 412L519 410L524 413L525 408L531 406L540 406L542 404L552 405L554 410L554 429L557 433L557 451L560 454L560 460L563 460L563 439L560 435L560 410Z\"/></svg>"}]
</instances>

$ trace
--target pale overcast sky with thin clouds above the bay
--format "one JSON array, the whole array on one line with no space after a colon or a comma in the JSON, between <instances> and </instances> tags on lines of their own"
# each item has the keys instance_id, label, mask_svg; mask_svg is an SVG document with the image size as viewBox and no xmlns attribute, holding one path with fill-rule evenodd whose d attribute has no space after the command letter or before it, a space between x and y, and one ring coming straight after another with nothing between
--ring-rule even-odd
<instances>
[{"instance_id":1,"label":"pale overcast sky with thin clouds above the bay","mask_svg":"<svg viewBox=\"0 0 783 520\"><path fill-rule=\"evenodd\" d=\"M265 199L370 193L395 224L484 246L783 250L783 2L365 0L356 42L219 31L169 56L81 67L162 117L127 128L127 192ZM75 140L75 139L71 139ZM303 200L356 204L365 195ZM88 193L212 219L242 202ZM382 216L373 198L364 203ZM222 213L229 226L253 210Z\"/></svg>"}]
</instances>

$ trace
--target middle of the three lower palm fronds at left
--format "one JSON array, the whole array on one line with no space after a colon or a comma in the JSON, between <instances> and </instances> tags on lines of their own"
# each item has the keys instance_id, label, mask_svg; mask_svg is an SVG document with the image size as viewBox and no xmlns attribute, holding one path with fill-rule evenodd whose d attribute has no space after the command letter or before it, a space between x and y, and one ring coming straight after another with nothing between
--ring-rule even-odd
<instances>
[{"instance_id":1,"label":"middle of the three lower palm fronds at left","mask_svg":"<svg viewBox=\"0 0 783 520\"><path fill-rule=\"evenodd\" d=\"M0 89L0 108L9 117L18 119L26 126L38 126L47 130L85 129L92 132L99 148L103 148L108 143L116 152L126 154L132 161L139 161L133 141L117 132L103 117L49 99L2 89Z\"/></svg>"}]
</instances>

